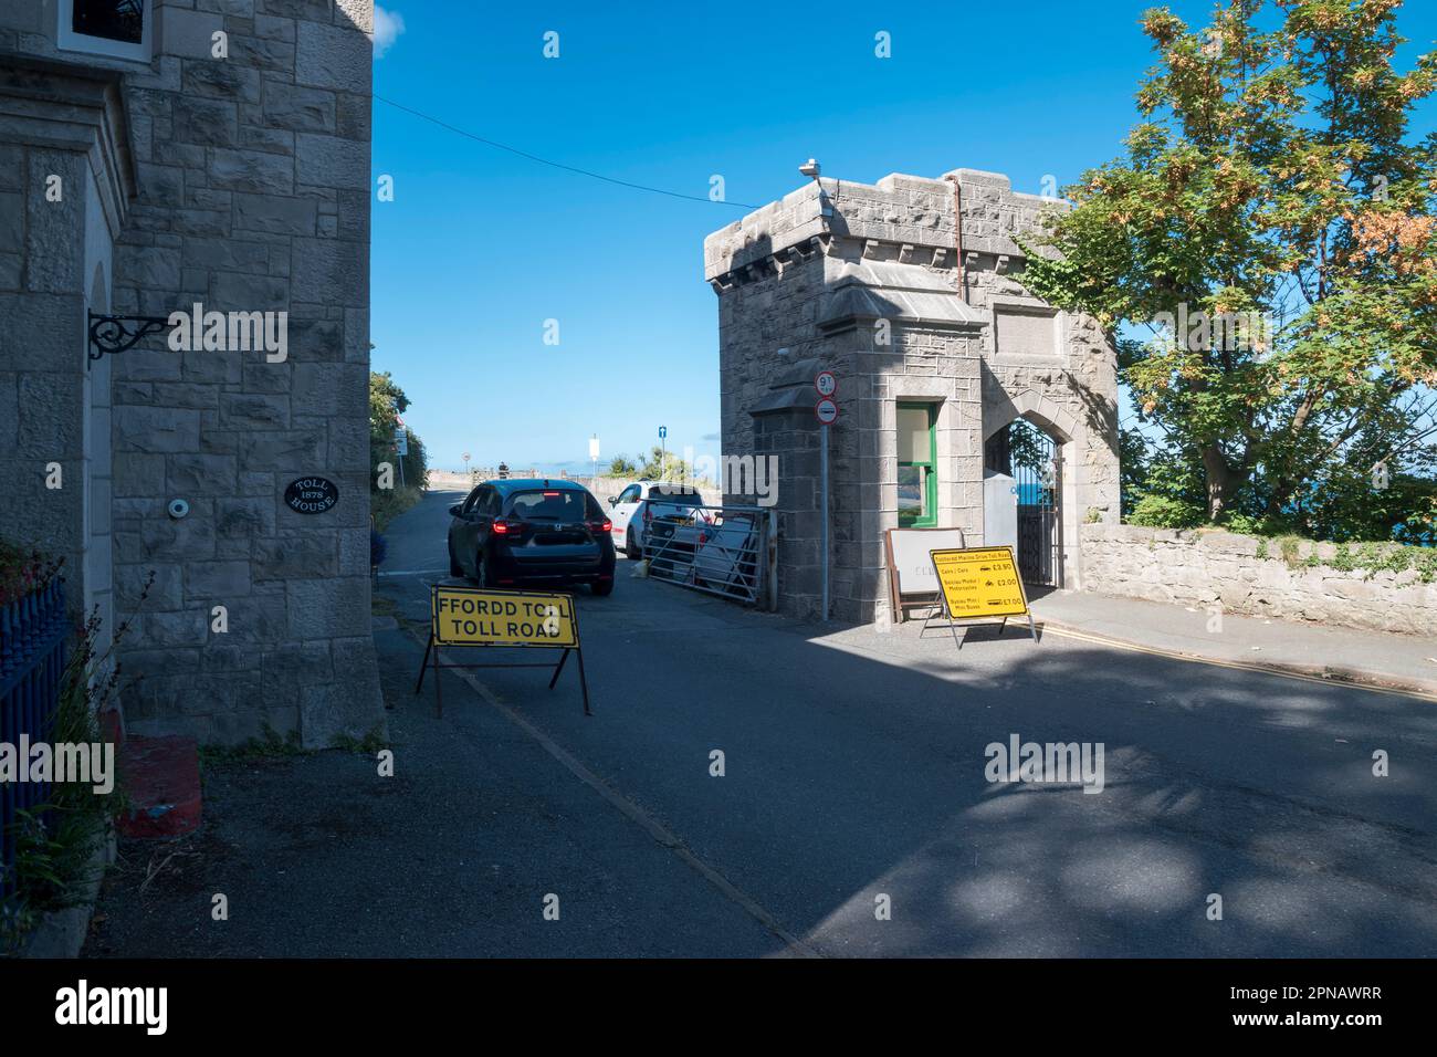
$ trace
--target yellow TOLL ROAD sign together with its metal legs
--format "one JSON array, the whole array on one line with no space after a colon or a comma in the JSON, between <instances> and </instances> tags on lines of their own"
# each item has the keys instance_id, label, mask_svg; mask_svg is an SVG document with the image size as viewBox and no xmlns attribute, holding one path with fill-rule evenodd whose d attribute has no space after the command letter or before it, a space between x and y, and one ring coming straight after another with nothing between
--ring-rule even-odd
<instances>
[{"instance_id":1,"label":"yellow TOLL ROAD sign together with its metal legs","mask_svg":"<svg viewBox=\"0 0 1437 1057\"><path fill-rule=\"evenodd\" d=\"M507 664L441 664L441 646L481 646L490 649L563 650L553 666L549 689L559 682L565 662L575 654L579 664L579 690L583 715L589 710L589 683L583 676L583 650L579 644L579 614L573 598L558 591L499 591L490 588L430 587L430 641L420 662L414 692L424 689L424 674L434 660L434 706L444 716L440 669L444 667L549 667L547 662Z\"/></svg>"}]
</instances>

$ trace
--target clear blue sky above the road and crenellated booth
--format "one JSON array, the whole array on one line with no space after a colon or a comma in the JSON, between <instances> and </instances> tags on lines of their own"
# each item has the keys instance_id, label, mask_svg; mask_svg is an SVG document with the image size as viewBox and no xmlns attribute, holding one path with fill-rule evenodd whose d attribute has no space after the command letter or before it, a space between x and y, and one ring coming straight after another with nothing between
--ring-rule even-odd
<instances>
[{"instance_id":1,"label":"clear blue sky above the road and crenellated booth","mask_svg":"<svg viewBox=\"0 0 1437 1057\"><path fill-rule=\"evenodd\" d=\"M392 0L374 83L476 135L704 198L720 174L731 203L772 201L809 157L842 180L961 165L1039 193L1119 152L1152 59L1145 6ZM1170 6L1190 23L1211 9ZM1437 3L1398 24L1405 68L1437 37ZM374 206L374 368L408 394L433 466L467 450L586 470L592 433L606 463L657 444L660 424L670 450L717 454L703 240L747 210L549 168L378 101L374 174L394 178Z\"/></svg>"}]
</instances>

